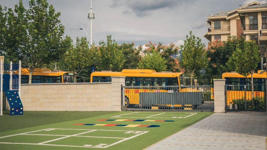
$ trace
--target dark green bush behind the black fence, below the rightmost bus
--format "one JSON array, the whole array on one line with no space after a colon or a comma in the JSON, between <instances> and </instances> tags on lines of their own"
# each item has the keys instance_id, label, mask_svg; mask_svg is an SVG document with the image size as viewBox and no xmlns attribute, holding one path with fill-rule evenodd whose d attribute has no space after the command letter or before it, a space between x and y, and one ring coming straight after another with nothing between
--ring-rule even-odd
<instances>
[{"instance_id":1,"label":"dark green bush behind the black fence, below the rightmost bus","mask_svg":"<svg viewBox=\"0 0 267 150\"><path fill-rule=\"evenodd\" d=\"M235 104L237 105L238 111L264 111L264 97L256 96L252 100L236 99L233 101L233 109ZM254 102L254 105L253 105Z\"/></svg>"}]
</instances>

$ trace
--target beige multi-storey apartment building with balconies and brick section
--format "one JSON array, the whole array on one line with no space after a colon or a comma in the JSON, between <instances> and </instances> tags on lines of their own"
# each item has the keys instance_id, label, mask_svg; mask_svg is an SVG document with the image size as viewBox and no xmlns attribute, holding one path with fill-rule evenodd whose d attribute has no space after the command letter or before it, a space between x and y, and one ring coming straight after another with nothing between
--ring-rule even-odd
<instances>
[{"instance_id":1,"label":"beige multi-storey apartment building with balconies and brick section","mask_svg":"<svg viewBox=\"0 0 267 150\"><path fill-rule=\"evenodd\" d=\"M246 40L255 40L261 33L267 34L267 4L253 2L231 12L220 12L208 17L210 25L203 36L210 42L219 39L226 41L227 36L244 36Z\"/></svg>"}]
</instances>

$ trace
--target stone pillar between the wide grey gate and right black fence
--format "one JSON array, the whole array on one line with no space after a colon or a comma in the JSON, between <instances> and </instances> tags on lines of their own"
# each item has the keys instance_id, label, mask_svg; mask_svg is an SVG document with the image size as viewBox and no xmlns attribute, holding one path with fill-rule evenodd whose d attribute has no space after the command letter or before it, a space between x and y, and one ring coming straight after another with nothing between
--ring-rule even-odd
<instances>
[{"instance_id":1,"label":"stone pillar between the wide grey gate and right black fence","mask_svg":"<svg viewBox=\"0 0 267 150\"><path fill-rule=\"evenodd\" d=\"M214 82L214 112L225 112L225 79Z\"/></svg>"}]
</instances>

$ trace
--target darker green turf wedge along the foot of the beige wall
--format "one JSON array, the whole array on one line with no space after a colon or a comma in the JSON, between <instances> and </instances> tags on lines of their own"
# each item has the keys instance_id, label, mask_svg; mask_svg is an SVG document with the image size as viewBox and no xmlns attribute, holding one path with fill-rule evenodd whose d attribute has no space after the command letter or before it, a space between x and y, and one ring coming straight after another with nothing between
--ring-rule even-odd
<instances>
[{"instance_id":1,"label":"darker green turf wedge along the foot of the beige wall","mask_svg":"<svg viewBox=\"0 0 267 150\"><path fill-rule=\"evenodd\" d=\"M52 123L65 122L105 114L114 111L24 111L23 115L10 116L9 111L3 111L0 116L0 132L48 125Z\"/></svg>"}]
</instances>

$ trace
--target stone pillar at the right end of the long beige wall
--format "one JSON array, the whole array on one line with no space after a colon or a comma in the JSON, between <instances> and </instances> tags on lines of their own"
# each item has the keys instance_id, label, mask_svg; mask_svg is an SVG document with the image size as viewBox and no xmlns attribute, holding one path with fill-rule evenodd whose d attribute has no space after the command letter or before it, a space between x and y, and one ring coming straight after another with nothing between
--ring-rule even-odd
<instances>
[{"instance_id":1,"label":"stone pillar at the right end of the long beige wall","mask_svg":"<svg viewBox=\"0 0 267 150\"><path fill-rule=\"evenodd\" d=\"M121 86L125 86L125 76L111 77L112 108L111 111L121 111Z\"/></svg>"}]
</instances>

